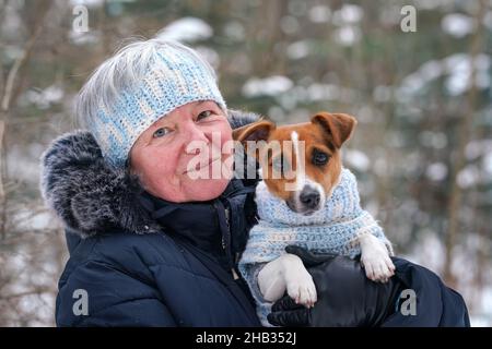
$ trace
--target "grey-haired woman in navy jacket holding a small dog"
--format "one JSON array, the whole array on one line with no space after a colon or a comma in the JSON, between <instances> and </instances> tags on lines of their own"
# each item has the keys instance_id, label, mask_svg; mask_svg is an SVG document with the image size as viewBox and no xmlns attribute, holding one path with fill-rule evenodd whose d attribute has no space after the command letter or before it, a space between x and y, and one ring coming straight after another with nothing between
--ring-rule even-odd
<instances>
[{"instance_id":1,"label":"grey-haired woman in navy jacket holding a small dog","mask_svg":"<svg viewBox=\"0 0 492 349\"><path fill-rule=\"evenodd\" d=\"M194 50L156 39L104 62L77 107L89 131L60 136L43 157L42 191L70 252L57 325L259 326L237 276L257 222L257 180L233 177L227 146L232 129L257 118L227 111L213 70ZM407 261L395 260L396 277L379 285L356 261L291 252L309 266L318 303L308 310L281 299L273 324L467 324L459 294ZM400 292L429 294L429 285L438 297L402 317Z\"/></svg>"}]
</instances>

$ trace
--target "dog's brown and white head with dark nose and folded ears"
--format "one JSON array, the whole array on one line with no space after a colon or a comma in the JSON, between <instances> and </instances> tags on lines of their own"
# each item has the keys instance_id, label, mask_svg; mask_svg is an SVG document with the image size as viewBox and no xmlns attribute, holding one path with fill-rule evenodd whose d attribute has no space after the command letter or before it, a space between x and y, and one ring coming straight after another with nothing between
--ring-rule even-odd
<instances>
[{"instance_id":1,"label":"dog's brown and white head with dark nose and folded ears","mask_svg":"<svg viewBox=\"0 0 492 349\"><path fill-rule=\"evenodd\" d=\"M311 122L277 127L260 120L233 137L257 158L268 190L304 215L320 209L341 172L340 148L356 124L345 113L318 112Z\"/></svg>"}]
</instances>

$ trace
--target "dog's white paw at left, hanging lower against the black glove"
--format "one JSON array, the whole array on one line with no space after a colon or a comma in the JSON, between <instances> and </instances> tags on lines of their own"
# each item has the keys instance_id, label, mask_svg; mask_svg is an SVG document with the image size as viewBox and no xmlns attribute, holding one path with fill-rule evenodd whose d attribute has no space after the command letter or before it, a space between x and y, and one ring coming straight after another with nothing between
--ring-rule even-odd
<instances>
[{"instance_id":1,"label":"dog's white paw at left, hanging lower against the black glove","mask_svg":"<svg viewBox=\"0 0 492 349\"><path fill-rule=\"evenodd\" d=\"M291 272L285 276L288 294L295 303L311 308L317 301L316 287L313 277L305 268Z\"/></svg>"}]
</instances>

